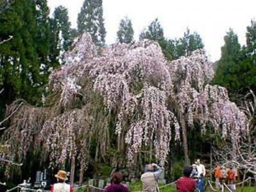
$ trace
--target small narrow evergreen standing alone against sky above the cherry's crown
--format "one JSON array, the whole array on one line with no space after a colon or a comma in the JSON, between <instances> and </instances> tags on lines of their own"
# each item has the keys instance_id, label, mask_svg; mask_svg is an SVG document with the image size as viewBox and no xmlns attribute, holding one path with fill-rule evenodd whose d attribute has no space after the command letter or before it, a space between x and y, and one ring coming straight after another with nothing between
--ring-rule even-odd
<instances>
[{"instance_id":1,"label":"small narrow evergreen standing alone against sky above the cherry's crown","mask_svg":"<svg viewBox=\"0 0 256 192\"><path fill-rule=\"evenodd\" d=\"M119 30L117 32L117 39L120 43L131 43L133 40L133 27L131 20L125 17L121 19L119 24Z\"/></svg>"}]
</instances>

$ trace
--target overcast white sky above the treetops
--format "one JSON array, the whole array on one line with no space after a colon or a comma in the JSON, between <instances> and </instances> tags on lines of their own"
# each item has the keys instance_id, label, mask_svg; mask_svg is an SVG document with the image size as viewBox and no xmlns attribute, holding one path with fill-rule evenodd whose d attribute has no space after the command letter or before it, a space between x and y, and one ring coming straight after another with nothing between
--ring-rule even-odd
<instances>
[{"instance_id":1,"label":"overcast white sky above the treetops","mask_svg":"<svg viewBox=\"0 0 256 192\"><path fill-rule=\"evenodd\" d=\"M59 5L68 8L72 27L76 27L83 2L48 0L51 15ZM135 40L155 18L169 39L182 37L188 27L202 37L207 55L216 61L229 28L238 35L240 44L245 44L246 27L256 19L256 0L103 0L107 44L116 42L118 25L125 16L131 19Z\"/></svg>"}]
</instances>

